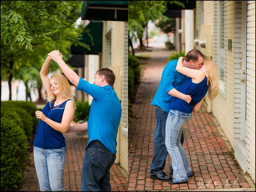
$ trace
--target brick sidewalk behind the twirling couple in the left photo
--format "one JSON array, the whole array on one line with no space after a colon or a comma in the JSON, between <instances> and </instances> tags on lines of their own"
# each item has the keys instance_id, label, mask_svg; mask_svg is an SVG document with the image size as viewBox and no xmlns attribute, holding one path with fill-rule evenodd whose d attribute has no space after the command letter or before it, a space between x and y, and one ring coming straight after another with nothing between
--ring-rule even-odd
<instances>
[{"instance_id":1,"label":"brick sidewalk behind the twirling couple in the left photo","mask_svg":"<svg viewBox=\"0 0 256 192\"><path fill-rule=\"evenodd\" d=\"M64 134L66 139L66 161L64 166L63 187L66 191L81 191L81 171L85 147L88 139L82 133ZM112 191L127 191L128 183L122 173L122 168L114 164L110 169L110 184ZM40 191L33 152L29 154L29 168L25 172L25 180L22 191Z\"/></svg>"}]
</instances>

